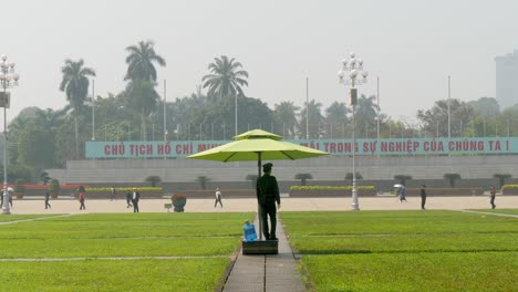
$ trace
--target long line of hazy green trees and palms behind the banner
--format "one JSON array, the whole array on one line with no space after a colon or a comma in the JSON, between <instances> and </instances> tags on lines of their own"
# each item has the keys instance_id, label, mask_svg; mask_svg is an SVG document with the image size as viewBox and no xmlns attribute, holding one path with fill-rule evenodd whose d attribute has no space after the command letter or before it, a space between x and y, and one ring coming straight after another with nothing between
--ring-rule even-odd
<instances>
[{"instance_id":1,"label":"long line of hazy green trees and palms behind the banner","mask_svg":"<svg viewBox=\"0 0 518 292\"><path fill-rule=\"evenodd\" d=\"M125 88L120 93L92 98L96 72L83 60L64 61L62 81L56 84L69 102L63 108L27 107L8 125L9 180L38 181L45 168L62 168L66 160L82 159L84 144L96 140L228 140L237 132L262 128L287 139L350 138L352 108L335 101L327 108L317 100L297 105L282 101L270 108L260 97L246 94L248 72L235 58L216 56L208 72L190 95L167 101L158 94L156 66L166 66L165 58L152 41L126 48ZM377 136L376 96L358 100L358 138ZM95 128L92 128L92 106ZM518 104L500 111L494 97L463 102L450 100L452 137L518 135ZM421 109L418 123L394 119L380 114L382 138L447 137L447 100ZM164 131L164 112L166 114ZM307 117L308 134L307 132ZM166 137L164 137L166 133ZM2 171L2 170L0 170Z\"/></svg>"}]
</instances>

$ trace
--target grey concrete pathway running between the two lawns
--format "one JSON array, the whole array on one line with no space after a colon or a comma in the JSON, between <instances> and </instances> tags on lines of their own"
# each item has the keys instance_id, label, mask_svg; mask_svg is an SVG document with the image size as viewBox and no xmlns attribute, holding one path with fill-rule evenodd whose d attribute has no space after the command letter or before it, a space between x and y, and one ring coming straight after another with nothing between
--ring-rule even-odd
<instances>
[{"instance_id":1,"label":"grey concrete pathway running between the two lawns","mask_svg":"<svg viewBox=\"0 0 518 292\"><path fill-rule=\"evenodd\" d=\"M257 220L255 225L259 226ZM279 238L279 254L250 255L239 251L224 292L307 291L280 220L276 233Z\"/></svg>"}]
</instances>

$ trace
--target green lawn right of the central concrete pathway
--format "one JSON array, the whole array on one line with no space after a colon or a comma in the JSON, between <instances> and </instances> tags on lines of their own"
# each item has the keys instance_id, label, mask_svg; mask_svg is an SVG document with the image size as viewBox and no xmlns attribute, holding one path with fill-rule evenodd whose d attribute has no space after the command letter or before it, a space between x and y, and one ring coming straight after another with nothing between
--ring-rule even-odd
<instances>
[{"instance_id":1,"label":"green lawn right of the central concrete pathway","mask_svg":"<svg viewBox=\"0 0 518 292\"><path fill-rule=\"evenodd\" d=\"M283 212L282 222L315 291L517 291L518 218Z\"/></svg>"}]
</instances>

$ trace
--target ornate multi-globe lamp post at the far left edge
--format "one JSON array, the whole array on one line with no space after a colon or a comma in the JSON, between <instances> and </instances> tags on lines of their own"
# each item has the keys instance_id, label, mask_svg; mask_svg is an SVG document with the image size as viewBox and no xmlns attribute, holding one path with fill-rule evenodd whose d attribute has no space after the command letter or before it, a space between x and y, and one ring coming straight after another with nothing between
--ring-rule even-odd
<instances>
[{"instance_id":1,"label":"ornate multi-globe lamp post at the far left edge","mask_svg":"<svg viewBox=\"0 0 518 292\"><path fill-rule=\"evenodd\" d=\"M3 107L3 208L2 213L10 215L11 211L9 209L9 196L8 196L8 180L7 180L7 148L8 148L8 139L7 139L7 108L10 105L11 95L8 92L8 88L12 88L18 85L18 80L20 75L14 72L14 63L7 62L7 55L1 55L1 63L0 63L0 84L2 86L2 92L0 93L0 106Z\"/></svg>"}]
</instances>

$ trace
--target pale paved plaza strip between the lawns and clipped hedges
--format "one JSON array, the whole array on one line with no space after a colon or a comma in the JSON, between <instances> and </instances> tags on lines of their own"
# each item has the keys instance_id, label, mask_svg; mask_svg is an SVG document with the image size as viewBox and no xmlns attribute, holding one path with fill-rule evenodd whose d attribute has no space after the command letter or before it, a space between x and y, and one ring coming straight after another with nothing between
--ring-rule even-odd
<instances>
[{"instance_id":1,"label":"pale paved plaza strip between the lawns and clipped hedges","mask_svg":"<svg viewBox=\"0 0 518 292\"><path fill-rule=\"evenodd\" d=\"M408 202L398 202L394 196L360 198L361 210L418 210L421 209L419 197L407 197ZM141 212L167 212L164 204L169 199L142 199ZM281 198L282 211L349 211L352 199L348 198ZM496 208L518 208L518 196L497 196ZM89 213L89 212L132 212L126 208L125 199L116 200L89 200L86 197L86 210L80 210L80 204L73 199L51 200L51 209L44 208L43 199L13 200L11 213ZM224 207L214 208L214 199L187 199L186 212L247 212L257 211L257 200L222 199ZM429 197L426 200L428 210L463 210L463 209L489 209L488 196L464 196L464 197ZM173 212L173 209L170 210Z\"/></svg>"}]
</instances>

